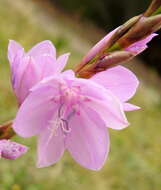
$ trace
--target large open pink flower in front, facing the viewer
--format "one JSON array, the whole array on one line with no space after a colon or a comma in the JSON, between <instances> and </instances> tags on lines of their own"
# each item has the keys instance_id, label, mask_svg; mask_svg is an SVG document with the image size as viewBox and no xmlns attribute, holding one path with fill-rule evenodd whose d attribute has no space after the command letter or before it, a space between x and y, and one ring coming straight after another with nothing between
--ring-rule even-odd
<instances>
[{"instance_id":1,"label":"large open pink flower in front, facing the viewer","mask_svg":"<svg viewBox=\"0 0 161 190\"><path fill-rule=\"evenodd\" d=\"M38 167L54 164L67 149L82 166L98 170L109 151L107 129L128 124L122 102L110 90L66 71L31 89L13 129L22 137L38 136Z\"/></svg>"}]
</instances>

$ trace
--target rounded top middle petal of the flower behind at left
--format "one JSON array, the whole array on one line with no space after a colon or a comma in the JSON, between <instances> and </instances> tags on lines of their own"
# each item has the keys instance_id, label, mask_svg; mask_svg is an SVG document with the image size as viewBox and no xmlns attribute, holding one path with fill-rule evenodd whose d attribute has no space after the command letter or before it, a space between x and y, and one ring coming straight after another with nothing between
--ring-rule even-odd
<instances>
[{"instance_id":1,"label":"rounded top middle petal of the flower behind at left","mask_svg":"<svg viewBox=\"0 0 161 190\"><path fill-rule=\"evenodd\" d=\"M41 56L44 54L51 55L54 58L56 57L56 49L52 42L49 40L38 43L27 53L27 55L33 57Z\"/></svg>"}]
</instances>

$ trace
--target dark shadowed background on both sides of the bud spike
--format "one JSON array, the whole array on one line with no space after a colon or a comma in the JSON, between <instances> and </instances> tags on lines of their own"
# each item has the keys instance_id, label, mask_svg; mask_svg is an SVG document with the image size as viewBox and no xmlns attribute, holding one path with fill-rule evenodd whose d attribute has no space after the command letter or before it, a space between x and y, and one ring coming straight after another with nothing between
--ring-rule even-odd
<instances>
[{"instance_id":1,"label":"dark shadowed background on both sides of the bud spike","mask_svg":"<svg viewBox=\"0 0 161 190\"><path fill-rule=\"evenodd\" d=\"M129 18L143 13L152 0L49 0L72 17L90 20L106 32L123 24ZM161 33L161 32L160 32ZM157 37L141 58L161 75L161 37Z\"/></svg>"}]
</instances>

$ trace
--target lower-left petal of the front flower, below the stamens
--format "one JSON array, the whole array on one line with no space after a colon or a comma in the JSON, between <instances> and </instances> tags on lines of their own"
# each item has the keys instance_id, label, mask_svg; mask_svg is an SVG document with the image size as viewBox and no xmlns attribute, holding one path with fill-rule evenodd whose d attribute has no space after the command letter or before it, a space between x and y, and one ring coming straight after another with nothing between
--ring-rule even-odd
<instances>
[{"instance_id":1,"label":"lower-left petal of the front flower, below the stamens","mask_svg":"<svg viewBox=\"0 0 161 190\"><path fill-rule=\"evenodd\" d=\"M41 132L38 140L37 167L47 167L56 163L64 153L64 136L59 127L52 134L50 126Z\"/></svg>"}]
</instances>

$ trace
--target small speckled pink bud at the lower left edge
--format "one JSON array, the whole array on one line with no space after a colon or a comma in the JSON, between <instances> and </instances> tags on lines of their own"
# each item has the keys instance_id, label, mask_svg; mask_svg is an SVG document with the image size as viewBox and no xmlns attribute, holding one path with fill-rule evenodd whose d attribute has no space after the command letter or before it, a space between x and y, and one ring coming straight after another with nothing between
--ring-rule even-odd
<instances>
[{"instance_id":1,"label":"small speckled pink bud at the lower left edge","mask_svg":"<svg viewBox=\"0 0 161 190\"><path fill-rule=\"evenodd\" d=\"M14 160L27 152L27 147L10 140L0 140L0 158Z\"/></svg>"}]
</instances>

